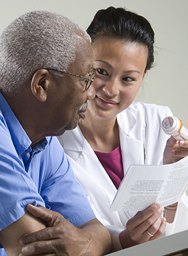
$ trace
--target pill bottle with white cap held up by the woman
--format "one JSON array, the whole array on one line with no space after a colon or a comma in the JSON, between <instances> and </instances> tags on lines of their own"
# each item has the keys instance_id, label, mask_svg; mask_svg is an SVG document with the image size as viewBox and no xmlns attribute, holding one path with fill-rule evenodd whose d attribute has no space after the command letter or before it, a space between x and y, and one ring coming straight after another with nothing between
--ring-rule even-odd
<instances>
[{"instance_id":1,"label":"pill bottle with white cap held up by the woman","mask_svg":"<svg viewBox=\"0 0 188 256\"><path fill-rule=\"evenodd\" d=\"M176 140L188 140L188 130L183 126L183 122L175 116L167 116L162 121L162 130Z\"/></svg>"}]
</instances>

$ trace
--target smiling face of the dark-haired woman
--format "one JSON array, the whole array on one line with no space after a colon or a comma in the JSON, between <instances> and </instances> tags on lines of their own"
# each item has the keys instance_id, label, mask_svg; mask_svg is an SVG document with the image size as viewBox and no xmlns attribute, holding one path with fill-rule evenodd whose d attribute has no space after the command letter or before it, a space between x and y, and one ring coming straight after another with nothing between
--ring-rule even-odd
<instances>
[{"instance_id":1,"label":"smiling face of the dark-haired woman","mask_svg":"<svg viewBox=\"0 0 188 256\"><path fill-rule=\"evenodd\" d=\"M98 118L110 119L135 99L145 75L147 47L105 39L93 46L93 54L96 96L88 108Z\"/></svg>"}]
</instances>

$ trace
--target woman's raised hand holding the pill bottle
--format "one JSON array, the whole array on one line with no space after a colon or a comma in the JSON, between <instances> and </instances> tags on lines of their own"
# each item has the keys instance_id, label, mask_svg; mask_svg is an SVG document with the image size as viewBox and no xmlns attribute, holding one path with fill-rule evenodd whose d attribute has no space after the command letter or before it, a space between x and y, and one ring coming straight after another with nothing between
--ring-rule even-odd
<instances>
[{"instance_id":1,"label":"woman's raised hand holding the pill bottle","mask_svg":"<svg viewBox=\"0 0 188 256\"><path fill-rule=\"evenodd\" d=\"M163 164L173 164L188 155L188 140L175 140L172 136L167 140L164 150Z\"/></svg>"}]
</instances>

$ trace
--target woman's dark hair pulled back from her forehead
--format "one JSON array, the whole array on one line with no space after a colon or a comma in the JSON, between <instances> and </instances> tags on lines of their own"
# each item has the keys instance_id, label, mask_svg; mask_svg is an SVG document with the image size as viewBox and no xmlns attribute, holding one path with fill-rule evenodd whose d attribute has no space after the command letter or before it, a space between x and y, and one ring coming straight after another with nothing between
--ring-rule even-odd
<instances>
[{"instance_id":1,"label":"woman's dark hair pulled back from her forehead","mask_svg":"<svg viewBox=\"0 0 188 256\"><path fill-rule=\"evenodd\" d=\"M128 43L147 46L148 58L145 70L154 63L154 31L144 17L123 8L100 9L87 28L92 45L100 38L110 37Z\"/></svg>"}]
</instances>

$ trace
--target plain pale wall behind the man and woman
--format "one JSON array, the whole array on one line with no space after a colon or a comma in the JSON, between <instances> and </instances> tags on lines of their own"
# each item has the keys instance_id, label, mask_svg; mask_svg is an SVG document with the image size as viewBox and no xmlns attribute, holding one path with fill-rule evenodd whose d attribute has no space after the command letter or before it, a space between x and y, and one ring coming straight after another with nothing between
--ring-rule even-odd
<instances>
[{"instance_id":1,"label":"plain pale wall behind the man and woman","mask_svg":"<svg viewBox=\"0 0 188 256\"><path fill-rule=\"evenodd\" d=\"M33 9L61 13L86 29L98 9L108 6L145 16L155 31L155 65L136 100L169 106L188 129L187 0L0 0L0 33L14 18Z\"/></svg>"}]
</instances>

